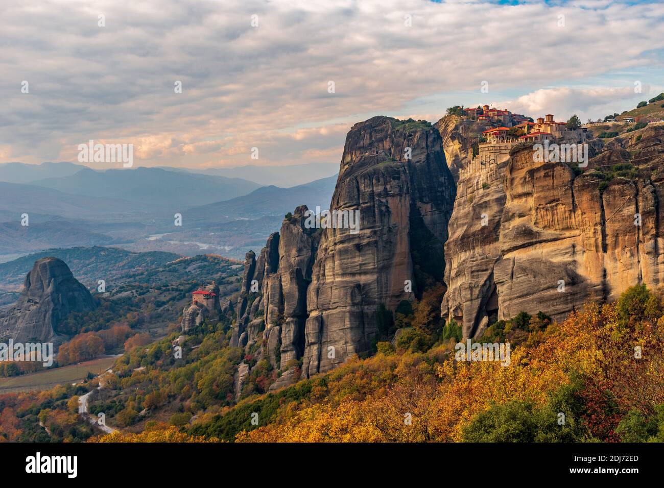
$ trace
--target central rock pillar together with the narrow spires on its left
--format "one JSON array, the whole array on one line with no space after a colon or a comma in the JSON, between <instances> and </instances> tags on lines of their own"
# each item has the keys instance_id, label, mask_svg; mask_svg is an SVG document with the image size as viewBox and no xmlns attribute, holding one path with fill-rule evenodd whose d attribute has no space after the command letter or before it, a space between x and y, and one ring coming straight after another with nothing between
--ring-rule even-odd
<instances>
[{"instance_id":1,"label":"central rock pillar together with the narrow spires on its left","mask_svg":"<svg viewBox=\"0 0 664 488\"><path fill-rule=\"evenodd\" d=\"M329 210L353 212L353 224L357 212L358 226L322 228L306 206L296 208L255 263L247 255L232 345L249 347L258 332L247 324L264 321L265 357L288 369L280 386L299 359L307 376L371 351L386 311L442 282L455 192L428 122L374 117L353 126ZM256 313L242 305L252 299L250 280L260 289Z\"/></svg>"}]
</instances>

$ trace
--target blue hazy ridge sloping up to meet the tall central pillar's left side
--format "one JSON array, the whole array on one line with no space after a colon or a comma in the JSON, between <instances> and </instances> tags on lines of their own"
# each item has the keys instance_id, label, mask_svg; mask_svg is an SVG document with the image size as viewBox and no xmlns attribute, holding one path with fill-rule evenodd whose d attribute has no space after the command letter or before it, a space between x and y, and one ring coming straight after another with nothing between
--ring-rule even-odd
<instances>
[{"instance_id":1,"label":"blue hazy ridge sloping up to meet the tall central pillar's left side","mask_svg":"<svg viewBox=\"0 0 664 488\"><path fill-rule=\"evenodd\" d=\"M267 215L283 216L302 204L312 210L315 210L316 206L327 209L336 183L337 175L333 175L291 188L270 185L243 197L193 208L190 213L195 216L197 222L205 220L214 223L229 218L256 219Z\"/></svg>"}]
</instances>

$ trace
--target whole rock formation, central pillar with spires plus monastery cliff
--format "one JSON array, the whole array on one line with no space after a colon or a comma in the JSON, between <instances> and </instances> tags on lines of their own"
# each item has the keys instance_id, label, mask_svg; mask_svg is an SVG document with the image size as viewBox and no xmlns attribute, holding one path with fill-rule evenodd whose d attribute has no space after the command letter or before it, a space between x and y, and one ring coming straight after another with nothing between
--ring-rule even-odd
<instances>
[{"instance_id":1,"label":"whole rock formation, central pillar with spires plus monastery cliff","mask_svg":"<svg viewBox=\"0 0 664 488\"><path fill-rule=\"evenodd\" d=\"M629 285L664 285L663 127L606 146L588 137L584 169L537 162L532 142L473 159L482 129L456 116L357 123L330 204L359 212L357 232L312 229L301 206L247 254L231 345L280 372L272 388L297 380L298 361L311 376L371 353L390 312L430 284L446 285L442 315L465 337L520 311L559 320Z\"/></svg>"}]
</instances>

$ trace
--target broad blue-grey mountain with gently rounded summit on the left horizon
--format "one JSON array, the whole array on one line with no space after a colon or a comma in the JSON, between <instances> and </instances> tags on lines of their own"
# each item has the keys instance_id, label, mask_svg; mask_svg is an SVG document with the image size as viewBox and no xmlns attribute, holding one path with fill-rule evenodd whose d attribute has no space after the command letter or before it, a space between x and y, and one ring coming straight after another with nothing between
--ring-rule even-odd
<instances>
[{"instance_id":1,"label":"broad blue-grey mountain with gently rounded summit on the left horizon","mask_svg":"<svg viewBox=\"0 0 664 488\"><path fill-rule=\"evenodd\" d=\"M33 185L76 195L122 199L168 213L246 195L259 186L239 178L143 167L106 171L85 168L67 177L37 180Z\"/></svg>"}]
</instances>

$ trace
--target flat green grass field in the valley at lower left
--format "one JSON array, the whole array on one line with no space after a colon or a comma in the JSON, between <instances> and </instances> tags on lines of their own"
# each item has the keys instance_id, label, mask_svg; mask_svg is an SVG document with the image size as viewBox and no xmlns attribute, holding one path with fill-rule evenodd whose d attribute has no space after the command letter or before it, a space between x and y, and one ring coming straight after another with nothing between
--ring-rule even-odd
<instances>
[{"instance_id":1,"label":"flat green grass field in the valley at lower left","mask_svg":"<svg viewBox=\"0 0 664 488\"><path fill-rule=\"evenodd\" d=\"M50 390L58 384L79 382L86 378L88 371L94 374L106 371L116 362L116 359L118 359L117 356L102 357L78 365L62 366L62 368L48 369L11 378L0 378L0 394Z\"/></svg>"}]
</instances>

